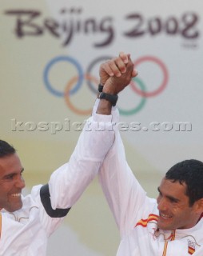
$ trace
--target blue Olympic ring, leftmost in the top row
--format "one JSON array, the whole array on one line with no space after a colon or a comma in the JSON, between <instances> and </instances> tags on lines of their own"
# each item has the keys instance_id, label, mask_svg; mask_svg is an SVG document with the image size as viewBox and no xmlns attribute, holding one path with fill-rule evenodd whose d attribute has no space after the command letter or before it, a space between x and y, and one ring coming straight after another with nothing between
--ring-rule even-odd
<instances>
[{"instance_id":1,"label":"blue Olympic ring, leftmost in the top row","mask_svg":"<svg viewBox=\"0 0 203 256\"><path fill-rule=\"evenodd\" d=\"M48 74L50 72L50 68L51 66L53 66L56 62L60 62L60 61L64 61L64 62L70 62L72 63L74 66L76 66L77 70L78 70L78 82L77 84L74 86L74 88L72 90L70 90L70 94L74 94L77 92L77 90L79 90L79 88L82 86L82 82L83 82L83 72L82 72L82 66L80 66L80 64L74 59L71 58L69 56L58 56L56 58L53 58L50 60L50 62L48 62L48 64L46 65L46 68L44 70L44 74L43 74L43 78L44 78L44 82L46 85L46 88L48 90L50 90L50 92L58 97L63 97L64 96L64 92L61 92L59 90L56 90L52 87L52 85L50 84L49 78L48 78Z\"/></svg>"}]
</instances>

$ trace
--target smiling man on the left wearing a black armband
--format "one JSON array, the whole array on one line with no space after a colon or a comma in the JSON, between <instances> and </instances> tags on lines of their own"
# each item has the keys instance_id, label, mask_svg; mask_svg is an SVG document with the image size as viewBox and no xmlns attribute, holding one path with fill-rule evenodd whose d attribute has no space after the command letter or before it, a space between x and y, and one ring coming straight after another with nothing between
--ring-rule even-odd
<instances>
[{"instance_id":1,"label":"smiling man on the left wearing a black armband","mask_svg":"<svg viewBox=\"0 0 203 256\"><path fill-rule=\"evenodd\" d=\"M102 143L99 137L91 136L90 130L97 130L99 121L99 116L89 118L70 161L54 171L48 184L34 186L26 197L22 196L24 168L18 154L13 146L0 140L1 256L46 255L50 234L98 174L105 158L100 146L105 149L105 145L113 143L107 131L110 122L100 132Z\"/></svg>"}]
</instances>

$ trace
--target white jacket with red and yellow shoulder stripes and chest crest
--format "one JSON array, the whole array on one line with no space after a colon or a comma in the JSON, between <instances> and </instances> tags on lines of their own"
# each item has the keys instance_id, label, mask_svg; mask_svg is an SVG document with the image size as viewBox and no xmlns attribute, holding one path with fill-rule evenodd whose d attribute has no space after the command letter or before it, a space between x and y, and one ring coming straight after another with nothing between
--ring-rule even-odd
<instances>
[{"instance_id":1,"label":"white jacket with red and yellow shoulder stripes and chest crest","mask_svg":"<svg viewBox=\"0 0 203 256\"><path fill-rule=\"evenodd\" d=\"M113 111L114 122L118 114ZM157 231L157 201L145 191L125 160L121 136L115 141L99 172L102 190L121 234L117 256L202 256L203 218L187 230Z\"/></svg>"}]
</instances>

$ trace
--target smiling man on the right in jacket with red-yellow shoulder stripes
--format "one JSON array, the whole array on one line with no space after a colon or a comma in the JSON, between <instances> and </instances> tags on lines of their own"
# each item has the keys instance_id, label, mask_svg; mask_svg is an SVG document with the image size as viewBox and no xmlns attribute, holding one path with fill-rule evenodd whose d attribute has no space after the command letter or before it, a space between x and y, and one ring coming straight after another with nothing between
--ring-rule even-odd
<instances>
[{"instance_id":1,"label":"smiling man on the right in jacket with red-yellow shoulder stripes","mask_svg":"<svg viewBox=\"0 0 203 256\"><path fill-rule=\"evenodd\" d=\"M161 180L156 200L146 196L125 160L111 96L125 88L120 82L130 61L121 53L102 64L100 87L108 97L99 97L97 110L104 122L105 115L113 120L113 144L109 142L99 178L121 235L117 256L202 256L203 163L191 159L173 166Z\"/></svg>"}]
</instances>

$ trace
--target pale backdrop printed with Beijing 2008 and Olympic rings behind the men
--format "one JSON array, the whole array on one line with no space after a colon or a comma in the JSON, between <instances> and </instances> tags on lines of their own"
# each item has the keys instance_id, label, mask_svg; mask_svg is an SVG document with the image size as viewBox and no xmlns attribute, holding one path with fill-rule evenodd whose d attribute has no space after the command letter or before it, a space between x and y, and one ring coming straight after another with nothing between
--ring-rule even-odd
<instances>
[{"instance_id":1,"label":"pale backdrop printed with Beijing 2008 and Olympic rings behind the men","mask_svg":"<svg viewBox=\"0 0 203 256\"><path fill-rule=\"evenodd\" d=\"M155 194L149 175L156 184L174 163L203 160L202 8L201 0L2 0L0 130L26 166L27 191L70 158L98 67L121 50L139 75L119 96L120 130L145 189ZM115 254L117 229L97 180L51 239L50 256Z\"/></svg>"}]
</instances>

